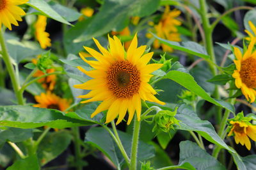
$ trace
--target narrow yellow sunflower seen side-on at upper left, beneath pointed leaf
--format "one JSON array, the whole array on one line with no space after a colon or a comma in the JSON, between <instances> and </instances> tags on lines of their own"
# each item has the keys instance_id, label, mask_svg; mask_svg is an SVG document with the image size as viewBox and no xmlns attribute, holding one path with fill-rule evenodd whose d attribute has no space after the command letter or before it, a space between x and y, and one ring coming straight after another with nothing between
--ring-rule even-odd
<instances>
[{"instance_id":1,"label":"narrow yellow sunflower seen side-on at upper left, beneath pointed leaf","mask_svg":"<svg viewBox=\"0 0 256 170\"><path fill-rule=\"evenodd\" d=\"M45 32L47 17L44 15L38 15L38 19L35 24L35 36L39 41L41 48L45 49L47 46L51 46L51 39L49 38L50 34Z\"/></svg>"}]
</instances>

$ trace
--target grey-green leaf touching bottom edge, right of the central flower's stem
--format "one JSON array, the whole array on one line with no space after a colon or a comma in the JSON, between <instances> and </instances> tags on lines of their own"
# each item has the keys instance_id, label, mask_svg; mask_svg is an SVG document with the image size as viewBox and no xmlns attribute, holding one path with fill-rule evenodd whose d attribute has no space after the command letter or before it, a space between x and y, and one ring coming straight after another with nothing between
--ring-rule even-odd
<instances>
[{"instance_id":1,"label":"grey-green leaf touching bottom edge, right of the central flower's stem","mask_svg":"<svg viewBox=\"0 0 256 170\"><path fill-rule=\"evenodd\" d=\"M196 143L191 141L180 142L180 160L179 164L189 162L197 170L218 169L224 170L223 166L218 160L209 155L205 150L202 150Z\"/></svg>"}]
</instances>

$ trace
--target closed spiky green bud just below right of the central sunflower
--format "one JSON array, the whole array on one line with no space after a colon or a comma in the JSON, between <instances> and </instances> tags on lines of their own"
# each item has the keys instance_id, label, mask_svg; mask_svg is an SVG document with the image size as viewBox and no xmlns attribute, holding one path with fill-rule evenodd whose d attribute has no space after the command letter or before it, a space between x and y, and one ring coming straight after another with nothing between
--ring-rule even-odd
<instances>
[{"instance_id":1,"label":"closed spiky green bud just below right of the central sunflower","mask_svg":"<svg viewBox=\"0 0 256 170\"><path fill-rule=\"evenodd\" d=\"M177 113L177 109L175 111L169 110L161 110L154 116L154 128L153 132L169 132L170 129L174 129L173 125L179 125L180 120L177 120L174 116Z\"/></svg>"}]
</instances>

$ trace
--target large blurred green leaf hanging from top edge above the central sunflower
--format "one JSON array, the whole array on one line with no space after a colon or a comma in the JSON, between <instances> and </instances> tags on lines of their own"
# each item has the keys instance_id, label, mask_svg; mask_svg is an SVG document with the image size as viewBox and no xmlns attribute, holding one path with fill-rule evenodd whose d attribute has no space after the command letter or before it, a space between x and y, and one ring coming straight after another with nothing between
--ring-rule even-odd
<instances>
[{"instance_id":1,"label":"large blurred green leaf hanging from top edge above the central sunflower","mask_svg":"<svg viewBox=\"0 0 256 170\"><path fill-rule=\"evenodd\" d=\"M90 24L84 27L83 34L81 36L77 35L79 37L75 39L75 42L86 41L92 37L106 34L129 17L150 15L157 10L159 3L159 0L106 0L100 7L99 12L92 18ZM116 15L117 13L118 15Z\"/></svg>"}]
</instances>

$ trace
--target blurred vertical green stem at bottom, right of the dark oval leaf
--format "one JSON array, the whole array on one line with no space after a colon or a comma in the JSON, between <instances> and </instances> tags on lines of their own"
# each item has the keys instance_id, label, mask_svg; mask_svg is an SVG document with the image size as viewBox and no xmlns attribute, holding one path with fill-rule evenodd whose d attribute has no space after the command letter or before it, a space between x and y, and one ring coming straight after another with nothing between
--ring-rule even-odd
<instances>
[{"instance_id":1,"label":"blurred vertical green stem at bottom, right of the dark oval leaf","mask_svg":"<svg viewBox=\"0 0 256 170\"><path fill-rule=\"evenodd\" d=\"M79 127L72 127L72 131L74 134L74 145L75 145L75 157L76 157L77 170L82 170L83 166L81 164L81 147L80 147L80 143L79 143L79 139L80 139Z\"/></svg>"}]
</instances>

